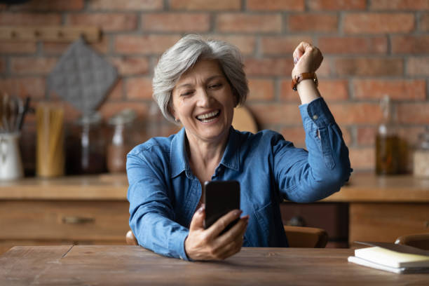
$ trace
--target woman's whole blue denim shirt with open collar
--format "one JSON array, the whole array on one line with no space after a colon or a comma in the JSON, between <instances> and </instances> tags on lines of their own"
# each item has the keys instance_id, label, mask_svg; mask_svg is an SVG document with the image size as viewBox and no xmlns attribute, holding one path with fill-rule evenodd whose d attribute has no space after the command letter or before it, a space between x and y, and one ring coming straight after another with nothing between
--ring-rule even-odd
<instances>
[{"instance_id":1,"label":"woman's whole blue denim shirt with open collar","mask_svg":"<svg viewBox=\"0 0 429 286\"><path fill-rule=\"evenodd\" d=\"M348 149L322 98L299 107L308 151L271 130L252 134L232 127L212 180L240 182L240 208L249 214L243 246L287 247L283 199L308 203L339 191L350 177ZM320 138L319 138L320 134ZM130 228L139 245L188 259L184 240L201 196L189 167L184 128L139 144L127 157Z\"/></svg>"}]
</instances>

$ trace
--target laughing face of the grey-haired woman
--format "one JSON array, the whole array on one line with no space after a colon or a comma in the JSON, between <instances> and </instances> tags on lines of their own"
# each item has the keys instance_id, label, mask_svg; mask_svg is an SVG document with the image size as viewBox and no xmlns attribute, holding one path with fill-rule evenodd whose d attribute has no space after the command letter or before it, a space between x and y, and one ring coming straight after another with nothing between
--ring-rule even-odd
<instances>
[{"instance_id":1,"label":"laughing face of the grey-haired woman","mask_svg":"<svg viewBox=\"0 0 429 286\"><path fill-rule=\"evenodd\" d=\"M222 142L228 136L234 107L231 86L216 60L200 60L172 90L172 114L188 139Z\"/></svg>"}]
</instances>

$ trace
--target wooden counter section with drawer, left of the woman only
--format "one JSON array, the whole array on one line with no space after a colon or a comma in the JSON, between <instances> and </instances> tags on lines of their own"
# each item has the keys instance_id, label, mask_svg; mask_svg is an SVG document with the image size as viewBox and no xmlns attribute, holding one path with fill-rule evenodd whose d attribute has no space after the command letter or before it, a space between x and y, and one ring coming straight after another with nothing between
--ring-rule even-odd
<instances>
[{"instance_id":1,"label":"wooden counter section with drawer, left of the woman only","mask_svg":"<svg viewBox=\"0 0 429 286\"><path fill-rule=\"evenodd\" d=\"M13 245L124 245L126 191L123 177L1 182L0 254Z\"/></svg>"}]
</instances>

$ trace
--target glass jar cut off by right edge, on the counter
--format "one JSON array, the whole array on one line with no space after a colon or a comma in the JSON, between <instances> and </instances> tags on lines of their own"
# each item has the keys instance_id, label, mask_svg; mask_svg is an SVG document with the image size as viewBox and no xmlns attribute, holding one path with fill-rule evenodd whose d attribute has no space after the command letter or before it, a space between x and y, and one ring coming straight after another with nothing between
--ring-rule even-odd
<instances>
[{"instance_id":1,"label":"glass jar cut off by right edge, on the counter","mask_svg":"<svg viewBox=\"0 0 429 286\"><path fill-rule=\"evenodd\" d=\"M429 126L418 136L418 144L414 151L414 175L429 177Z\"/></svg>"}]
</instances>

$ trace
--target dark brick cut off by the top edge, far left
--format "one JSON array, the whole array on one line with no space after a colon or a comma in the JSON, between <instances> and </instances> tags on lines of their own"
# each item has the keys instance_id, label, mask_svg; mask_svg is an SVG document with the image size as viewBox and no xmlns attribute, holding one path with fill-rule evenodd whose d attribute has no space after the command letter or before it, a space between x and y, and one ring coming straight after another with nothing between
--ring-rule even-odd
<instances>
[{"instance_id":1,"label":"dark brick cut off by the top edge, far left","mask_svg":"<svg viewBox=\"0 0 429 286\"><path fill-rule=\"evenodd\" d=\"M52 1L37 0L13 6L14 11L79 11L83 9L83 0Z\"/></svg>"}]
</instances>

